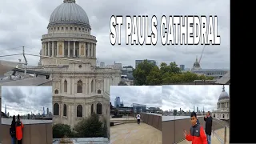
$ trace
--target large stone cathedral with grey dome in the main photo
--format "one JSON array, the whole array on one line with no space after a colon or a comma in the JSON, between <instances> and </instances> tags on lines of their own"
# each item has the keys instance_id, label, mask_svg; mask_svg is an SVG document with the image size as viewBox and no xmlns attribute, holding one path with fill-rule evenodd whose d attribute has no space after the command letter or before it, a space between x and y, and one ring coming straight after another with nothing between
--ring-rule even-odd
<instances>
[{"instance_id":1,"label":"large stone cathedral with grey dome in the main photo","mask_svg":"<svg viewBox=\"0 0 256 144\"><path fill-rule=\"evenodd\" d=\"M121 71L96 66L97 40L85 10L75 0L64 0L50 15L47 29L42 66L34 70L51 74L54 123L74 127L93 112L109 122L110 86L118 85Z\"/></svg>"}]
</instances>

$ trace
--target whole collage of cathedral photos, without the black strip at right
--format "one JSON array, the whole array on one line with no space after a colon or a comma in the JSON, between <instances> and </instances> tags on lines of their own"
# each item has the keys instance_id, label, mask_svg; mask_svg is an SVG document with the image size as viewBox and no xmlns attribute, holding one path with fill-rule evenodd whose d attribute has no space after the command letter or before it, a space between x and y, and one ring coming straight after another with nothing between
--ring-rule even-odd
<instances>
[{"instance_id":1,"label":"whole collage of cathedral photos, without the black strip at right","mask_svg":"<svg viewBox=\"0 0 256 144\"><path fill-rule=\"evenodd\" d=\"M230 143L229 9L220 0L2 2L0 144ZM118 14L214 14L221 44L163 47L158 34L156 45L126 45L124 28L114 46Z\"/></svg>"}]
</instances>

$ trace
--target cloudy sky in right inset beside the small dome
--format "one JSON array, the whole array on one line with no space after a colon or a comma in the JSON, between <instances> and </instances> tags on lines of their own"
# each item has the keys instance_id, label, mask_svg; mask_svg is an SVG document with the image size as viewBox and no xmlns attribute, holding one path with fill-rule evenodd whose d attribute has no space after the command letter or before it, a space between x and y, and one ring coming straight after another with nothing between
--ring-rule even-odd
<instances>
[{"instance_id":1,"label":"cloudy sky in right inset beside the small dome","mask_svg":"<svg viewBox=\"0 0 256 144\"><path fill-rule=\"evenodd\" d=\"M218 97L223 86L162 86L163 110L190 110L212 111L217 109ZM225 86L230 94L230 86Z\"/></svg>"}]
</instances>

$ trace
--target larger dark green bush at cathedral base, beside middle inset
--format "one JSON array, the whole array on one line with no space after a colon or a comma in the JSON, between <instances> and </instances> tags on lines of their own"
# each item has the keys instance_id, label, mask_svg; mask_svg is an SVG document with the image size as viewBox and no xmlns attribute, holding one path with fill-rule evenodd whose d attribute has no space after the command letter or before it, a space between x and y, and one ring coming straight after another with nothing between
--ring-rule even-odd
<instances>
[{"instance_id":1,"label":"larger dark green bush at cathedral base, beside middle inset","mask_svg":"<svg viewBox=\"0 0 256 144\"><path fill-rule=\"evenodd\" d=\"M91 114L89 118L84 118L74 126L78 138L104 137L102 122L99 121L98 114Z\"/></svg>"}]
</instances>

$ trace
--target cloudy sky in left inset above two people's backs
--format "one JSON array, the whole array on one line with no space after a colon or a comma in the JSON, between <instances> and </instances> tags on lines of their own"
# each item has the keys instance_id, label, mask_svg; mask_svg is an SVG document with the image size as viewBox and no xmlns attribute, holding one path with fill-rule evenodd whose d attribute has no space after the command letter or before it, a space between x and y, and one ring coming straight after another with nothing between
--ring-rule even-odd
<instances>
[{"instance_id":1,"label":"cloudy sky in left inset above two people's backs","mask_svg":"<svg viewBox=\"0 0 256 144\"><path fill-rule=\"evenodd\" d=\"M47 107L52 111L51 86L2 86L2 112L10 115L45 114Z\"/></svg>"}]
</instances>

